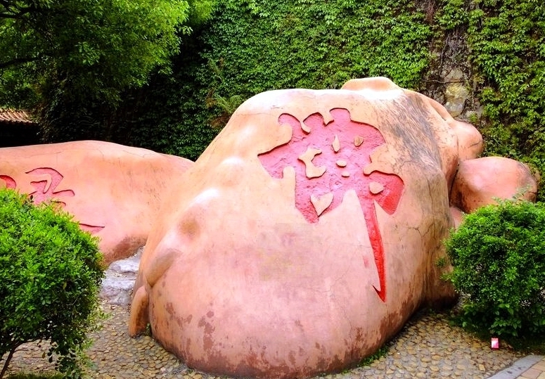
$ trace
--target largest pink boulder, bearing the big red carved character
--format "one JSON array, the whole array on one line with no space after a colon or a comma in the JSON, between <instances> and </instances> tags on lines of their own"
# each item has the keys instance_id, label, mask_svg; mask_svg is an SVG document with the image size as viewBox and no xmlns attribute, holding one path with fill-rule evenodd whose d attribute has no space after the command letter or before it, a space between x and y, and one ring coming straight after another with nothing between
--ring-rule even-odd
<instances>
[{"instance_id":1,"label":"largest pink boulder, bearing the big red carved character","mask_svg":"<svg viewBox=\"0 0 545 379\"><path fill-rule=\"evenodd\" d=\"M129 332L150 323L188 366L224 375L357 363L418 307L454 300L436 263L458 166L481 151L473 126L384 78L250 98L174 179Z\"/></svg>"}]
</instances>

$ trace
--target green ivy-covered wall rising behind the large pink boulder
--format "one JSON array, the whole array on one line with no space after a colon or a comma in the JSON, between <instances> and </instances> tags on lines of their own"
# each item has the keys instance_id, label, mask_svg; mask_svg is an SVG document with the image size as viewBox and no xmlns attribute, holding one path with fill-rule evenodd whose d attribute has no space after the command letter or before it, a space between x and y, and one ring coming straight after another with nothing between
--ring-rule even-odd
<instances>
[{"instance_id":1,"label":"green ivy-covered wall rising behind the large pink boulder","mask_svg":"<svg viewBox=\"0 0 545 379\"><path fill-rule=\"evenodd\" d=\"M458 70L485 153L545 172L544 14L541 0L219 1L184 41L193 54L127 92L108 135L194 160L259 92L385 76L444 103Z\"/></svg>"}]
</instances>

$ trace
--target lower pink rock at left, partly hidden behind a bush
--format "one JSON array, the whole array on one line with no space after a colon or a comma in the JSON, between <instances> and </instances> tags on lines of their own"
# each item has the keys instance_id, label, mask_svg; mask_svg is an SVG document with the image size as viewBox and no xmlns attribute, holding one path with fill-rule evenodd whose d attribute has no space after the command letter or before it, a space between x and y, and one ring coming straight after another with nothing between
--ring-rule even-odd
<instances>
[{"instance_id":1,"label":"lower pink rock at left, partly hidden behind a bush","mask_svg":"<svg viewBox=\"0 0 545 379\"><path fill-rule=\"evenodd\" d=\"M53 200L100 238L105 264L146 243L173 176L193 162L101 141L0 148L0 186Z\"/></svg>"}]
</instances>

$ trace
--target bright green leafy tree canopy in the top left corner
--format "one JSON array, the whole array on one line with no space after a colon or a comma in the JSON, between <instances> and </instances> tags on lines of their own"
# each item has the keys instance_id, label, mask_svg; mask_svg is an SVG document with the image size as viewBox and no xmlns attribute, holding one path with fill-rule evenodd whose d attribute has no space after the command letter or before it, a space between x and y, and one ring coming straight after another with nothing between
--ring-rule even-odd
<instances>
[{"instance_id":1,"label":"bright green leafy tree canopy in the top left corner","mask_svg":"<svg viewBox=\"0 0 545 379\"><path fill-rule=\"evenodd\" d=\"M0 0L0 105L30 107L60 91L116 103L155 68L212 0Z\"/></svg>"}]
</instances>

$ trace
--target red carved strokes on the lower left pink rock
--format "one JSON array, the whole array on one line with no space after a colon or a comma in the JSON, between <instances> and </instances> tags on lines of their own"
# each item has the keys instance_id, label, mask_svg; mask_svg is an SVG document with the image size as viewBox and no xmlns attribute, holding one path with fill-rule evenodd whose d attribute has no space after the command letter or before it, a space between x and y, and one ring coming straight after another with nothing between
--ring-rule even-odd
<instances>
[{"instance_id":1,"label":"red carved strokes on the lower left pink rock","mask_svg":"<svg viewBox=\"0 0 545 379\"><path fill-rule=\"evenodd\" d=\"M45 200L51 200L58 203L61 207L65 207L66 203L58 200L58 198L73 197L75 195L74 191L72 190L55 191L60 181L62 181L64 178L64 176L56 169L52 169L51 167L39 167L26 172L26 174L39 176L39 178L37 178L39 180L30 182L36 191L29 193L29 195L32 196L32 201L36 204L42 203ZM6 187L8 188L17 187L15 180L11 176L0 175L0 179L6 182ZM104 229L104 226L95 226L82 223L80 223L79 226L84 231L89 231L89 233L98 233Z\"/></svg>"}]
</instances>

